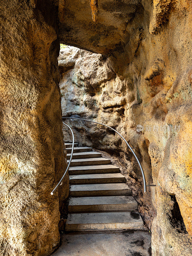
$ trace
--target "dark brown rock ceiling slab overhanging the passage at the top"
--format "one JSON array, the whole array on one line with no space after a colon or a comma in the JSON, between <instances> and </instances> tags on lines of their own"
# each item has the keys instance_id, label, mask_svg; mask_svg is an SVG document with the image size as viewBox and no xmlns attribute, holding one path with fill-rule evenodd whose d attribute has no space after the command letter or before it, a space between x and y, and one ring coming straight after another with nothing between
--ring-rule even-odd
<instances>
[{"instance_id":1,"label":"dark brown rock ceiling slab overhanging the passage at the top","mask_svg":"<svg viewBox=\"0 0 192 256\"><path fill-rule=\"evenodd\" d=\"M116 45L120 44L121 47L121 43L128 41L126 27L139 3L140 0L99 0L95 22L92 20L90 0L65 1L62 9L64 20L60 22L59 29L60 40L68 45L108 54Z\"/></svg>"}]
</instances>

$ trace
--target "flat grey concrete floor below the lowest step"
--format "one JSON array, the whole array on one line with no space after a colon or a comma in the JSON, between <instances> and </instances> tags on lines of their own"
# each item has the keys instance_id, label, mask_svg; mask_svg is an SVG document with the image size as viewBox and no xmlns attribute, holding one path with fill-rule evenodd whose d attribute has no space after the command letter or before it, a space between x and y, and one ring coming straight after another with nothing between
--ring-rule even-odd
<instances>
[{"instance_id":1,"label":"flat grey concrete floor below the lowest step","mask_svg":"<svg viewBox=\"0 0 192 256\"><path fill-rule=\"evenodd\" d=\"M97 231L68 233L53 256L150 256L147 231Z\"/></svg>"}]
</instances>

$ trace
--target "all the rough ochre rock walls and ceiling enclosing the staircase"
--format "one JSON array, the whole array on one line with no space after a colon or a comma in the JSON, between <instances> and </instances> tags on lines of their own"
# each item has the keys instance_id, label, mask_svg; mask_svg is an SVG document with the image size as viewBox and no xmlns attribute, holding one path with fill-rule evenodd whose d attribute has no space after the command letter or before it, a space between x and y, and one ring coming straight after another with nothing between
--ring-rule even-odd
<instances>
[{"instance_id":1,"label":"all the rough ochre rock walls and ceiling enclosing the staircase","mask_svg":"<svg viewBox=\"0 0 192 256\"><path fill-rule=\"evenodd\" d=\"M68 178L52 197L66 167L57 31L61 43L104 55L93 60L93 71L84 53L81 73L79 53L63 65L71 97L69 110L62 103L64 115L106 123L135 147L147 183L157 184L143 196L140 170L119 137L73 122L82 143L110 151L131 170L128 180L148 227L156 215L152 254L191 255L192 3L92 2L98 12L89 0L1 1L0 255L48 255L59 243L59 198L62 207ZM144 129L137 131L138 124Z\"/></svg>"}]
</instances>

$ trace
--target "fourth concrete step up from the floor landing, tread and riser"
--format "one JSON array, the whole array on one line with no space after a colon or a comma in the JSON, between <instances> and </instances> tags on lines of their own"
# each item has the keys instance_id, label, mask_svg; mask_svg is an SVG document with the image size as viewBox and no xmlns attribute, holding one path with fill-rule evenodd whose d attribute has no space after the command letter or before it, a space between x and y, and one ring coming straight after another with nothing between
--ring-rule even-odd
<instances>
[{"instance_id":1,"label":"fourth concrete step up from the floor landing, tread and riser","mask_svg":"<svg viewBox=\"0 0 192 256\"><path fill-rule=\"evenodd\" d=\"M99 173L70 175L69 184L96 184L96 183L120 183L126 182L121 173Z\"/></svg>"}]
</instances>

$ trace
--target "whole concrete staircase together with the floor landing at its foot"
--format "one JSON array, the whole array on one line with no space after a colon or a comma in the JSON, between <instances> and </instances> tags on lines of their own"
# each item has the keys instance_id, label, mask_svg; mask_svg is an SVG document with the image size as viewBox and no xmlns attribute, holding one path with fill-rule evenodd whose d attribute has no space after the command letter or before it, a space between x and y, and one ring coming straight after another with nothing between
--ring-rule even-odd
<instances>
[{"instance_id":1,"label":"whole concrete staircase together with the floor landing at its foot","mask_svg":"<svg viewBox=\"0 0 192 256\"><path fill-rule=\"evenodd\" d=\"M69 160L71 144L65 145ZM76 145L69 180L68 232L54 256L151 255L150 233L142 230L137 202L117 166Z\"/></svg>"}]
</instances>

